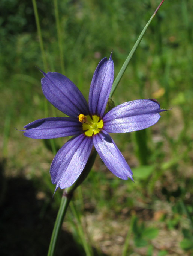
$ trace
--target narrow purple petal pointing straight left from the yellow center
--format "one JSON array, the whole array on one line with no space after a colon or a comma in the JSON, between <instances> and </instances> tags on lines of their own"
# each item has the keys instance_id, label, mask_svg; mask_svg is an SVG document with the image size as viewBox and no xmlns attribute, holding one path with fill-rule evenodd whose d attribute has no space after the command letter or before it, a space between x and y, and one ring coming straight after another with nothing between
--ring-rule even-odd
<instances>
[{"instance_id":1,"label":"narrow purple petal pointing straight left from the yellow center","mask_svg":"<svg viewBox=\"0 0 193 256\"><path fill-rule=\"evenodd\" d=\"M82 123L72 117L42 118L24 128L24 135L33 139L51 139L82 133Z\"/></svg>"}]
</instances>

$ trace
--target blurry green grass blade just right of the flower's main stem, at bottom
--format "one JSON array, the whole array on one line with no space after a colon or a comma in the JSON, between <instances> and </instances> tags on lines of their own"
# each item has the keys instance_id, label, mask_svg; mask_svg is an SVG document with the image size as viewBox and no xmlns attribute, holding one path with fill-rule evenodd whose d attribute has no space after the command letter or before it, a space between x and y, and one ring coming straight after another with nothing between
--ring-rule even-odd
<instances>
[{"instance_id":1,"label":"blurry green grass blade just right of the flower's main stem, at bottom","mask_svg":"<svg viewBox=\"0 0 193 256\"><path fill-rule=\"evenodd\" d=\"M70 209L72 210L72 213L73 215L75 216L76 218L76 221L77 221L77 229L78 229L78 234L82 240L82 245L84 247L84 250L85 250L85 253L86 253L86 256L93 256L93 250L92 250L92 247L88 244L87 240L86 240L86 237L85 237L85 232L82 228L82 224L81 224L81 219L80 219L80 216L76 210L76 207L75 205L73 204L73 202L70 203Z\"/></svg>"}]
</instances>

